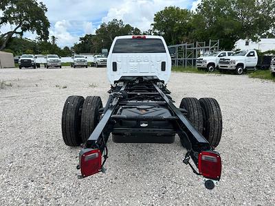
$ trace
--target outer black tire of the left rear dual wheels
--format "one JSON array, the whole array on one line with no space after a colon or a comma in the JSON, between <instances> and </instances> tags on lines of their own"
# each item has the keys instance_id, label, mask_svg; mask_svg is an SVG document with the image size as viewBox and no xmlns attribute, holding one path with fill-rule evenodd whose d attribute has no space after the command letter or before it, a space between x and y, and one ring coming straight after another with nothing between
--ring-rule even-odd
<instances>
[{"instance_id":1,"label":"outer black tire of the left rear dual wheels","mask_svg":"<svg viewBox=\"0 0 275 206\"><path fill-rule=\"evenodd\" d=\"M80 146L83 143L80 133L81 111L84 98L69 96L62 113L62 135L67 146Z\"/></svg>"}]
</instances>

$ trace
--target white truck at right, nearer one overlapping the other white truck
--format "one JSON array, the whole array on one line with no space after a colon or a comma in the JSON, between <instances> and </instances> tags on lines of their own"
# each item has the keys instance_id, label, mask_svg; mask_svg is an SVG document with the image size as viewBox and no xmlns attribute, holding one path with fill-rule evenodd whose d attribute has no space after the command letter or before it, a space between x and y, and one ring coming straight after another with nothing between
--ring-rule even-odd
<instances>
[{"instance_id":1,"label":"white truck at right, nearer one overlapping the other white truck","mask_svg":"<svg viewBox=\"0 0 275 206\"><path fill-rule=\"evenodd\" d=\"M255 70L258 64L258 54L255 50L239 51L229 58L221 58L218 67L234 70L236 74L243 74L245 70Z\"/></svg>"}]
</instances>

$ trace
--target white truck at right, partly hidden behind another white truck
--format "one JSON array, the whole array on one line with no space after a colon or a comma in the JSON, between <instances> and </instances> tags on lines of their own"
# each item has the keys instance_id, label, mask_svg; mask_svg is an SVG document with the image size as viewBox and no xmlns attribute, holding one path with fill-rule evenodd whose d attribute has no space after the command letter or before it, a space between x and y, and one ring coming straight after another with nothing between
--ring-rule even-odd
<instances>
[{"instance_id":1,"label":"white truck at right, partly hidden behind another white truck","mask_svg":"<svg viewBox=\"0 0 275 206\"><path fill-rule=\"evenodd\" d=\"M217 68L220 58L231 56L232 54L234 54L234 52L231 51L213 52L208 56L197 58L197 69L204 69L206 71L213 72L214 69Z\"/></svg>"}]
</instances>

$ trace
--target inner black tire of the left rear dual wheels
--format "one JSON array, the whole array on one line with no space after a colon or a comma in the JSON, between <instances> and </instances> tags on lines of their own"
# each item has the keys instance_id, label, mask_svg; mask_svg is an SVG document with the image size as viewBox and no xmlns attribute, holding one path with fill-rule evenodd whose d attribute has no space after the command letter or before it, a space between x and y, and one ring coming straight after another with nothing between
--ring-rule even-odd
<instances>
[{"instance_id":1,"label":"inner black tire of the left rear dual wheels","mask_svg":"<svg viewBox=\"0 0 275 206\"><path fill-rule=\"evenodd\" d=\"M81 138L83 143L87 141L100 120L99 109L102 108L101 98L89 96L85 99L81 116Z\"/></svg>"}]
</instances>

